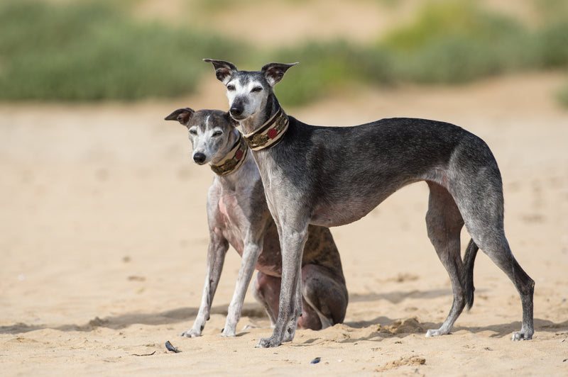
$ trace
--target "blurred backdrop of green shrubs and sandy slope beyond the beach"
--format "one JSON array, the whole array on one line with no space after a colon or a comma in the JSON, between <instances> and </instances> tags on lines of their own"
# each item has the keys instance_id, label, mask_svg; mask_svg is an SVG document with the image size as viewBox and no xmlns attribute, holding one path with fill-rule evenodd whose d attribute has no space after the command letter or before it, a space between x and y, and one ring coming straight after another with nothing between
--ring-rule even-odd
<instances>
[{"instance_id":1,"label":"blurred backdrop of green shrubs and sandy slope beyond the beach","mask_svg":"<svg viewBox=\"0 0 568 377\"><path fill-rule=\"evenodd\" d=\"M565 0L2 0L0 101L194 94L202 58L301 62L284 106L568 68ZM568 106L566 84L552 93Z\"/></svg>"}]
</instances>

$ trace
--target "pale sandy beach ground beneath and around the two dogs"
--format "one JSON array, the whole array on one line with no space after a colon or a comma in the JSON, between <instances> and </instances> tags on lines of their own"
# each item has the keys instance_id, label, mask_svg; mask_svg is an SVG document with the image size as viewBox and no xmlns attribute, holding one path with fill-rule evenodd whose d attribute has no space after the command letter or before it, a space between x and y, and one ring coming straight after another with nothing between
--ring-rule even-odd
<instances>
[{"instance_id":1,"label":"pale sandy beach ground beneath and around the two dogs","mask_svg":"<svg viewBox=\"0 0 568 377\"><path fill-rule=\"evenodd\" d=\"M424 336L452 303L426 235L425 184L332 230L350 296L344 324L255 349L271 329L241 330L269 325L249 294L237 336L220 337L239 268L230 249L204 336L179 337L200 303L212 172L190 163L185 128L162 119L226 108L222 86L168 103L0 105L1 374L566 376L568 112L552 98L562 79L351 91L287 108L315 124L435 118L484 138L503 174L508 240L536 281L530 342L510 341L520 300L482 253L474 308L452 334Z\"/></svg>"}]
</instances>

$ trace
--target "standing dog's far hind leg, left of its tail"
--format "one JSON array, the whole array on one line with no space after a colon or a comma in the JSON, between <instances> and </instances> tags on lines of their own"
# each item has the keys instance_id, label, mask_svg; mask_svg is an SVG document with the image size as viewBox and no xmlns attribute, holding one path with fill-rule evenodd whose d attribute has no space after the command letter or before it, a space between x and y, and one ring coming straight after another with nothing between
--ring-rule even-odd
<instances>
[{"instance_id":1,"label":"standing dog's far hind leg, left of its tail","mask_svg":"<svg viewBox=\"0 0 568 377\"><path fill-rule=\"evenodd\" d=\"M461 278L463 263L460 253L460 232L464 226L464 220L461 218L454 198L446 188L430 181L428 186L430 187L430 199L426 214L428 237L436 249L439 260L442 261L449 274L454 292L452 309L449 310L442 326L437 330L426 332L427 337L437 337L448 334L452 330L454 322L466 305L465 284Z\"/></svg>"}]
</instances>

